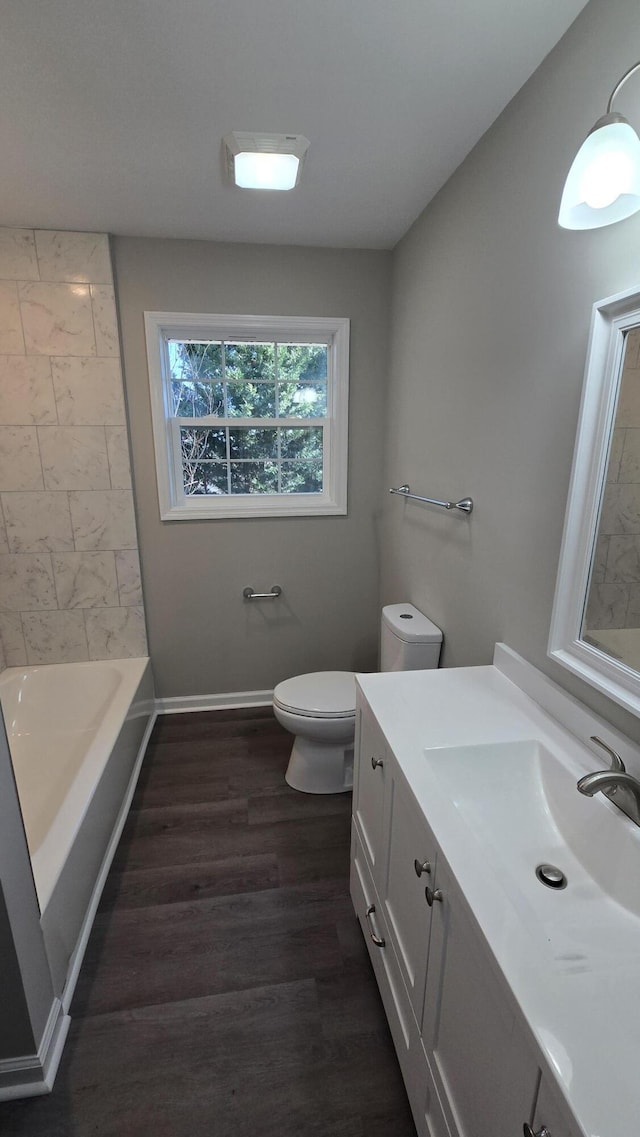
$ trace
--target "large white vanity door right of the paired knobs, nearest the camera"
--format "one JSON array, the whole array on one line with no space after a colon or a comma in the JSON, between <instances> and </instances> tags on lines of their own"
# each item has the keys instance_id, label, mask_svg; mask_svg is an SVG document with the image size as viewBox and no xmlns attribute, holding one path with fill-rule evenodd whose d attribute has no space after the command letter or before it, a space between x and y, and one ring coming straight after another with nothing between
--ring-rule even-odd
<instances>
[{"instance_id":1,"label":"large white vanity door right of the paired knobs, nearest the camera","mask_svg":"<svg viewBox=\"0 0 640 1137\"><path fill-rule=\"evenodd\" d=\"M456 1137L520 1137L538 1065L442 856L437 885L423 1044L447 1123Z\"/></svg>"}]
</instances>

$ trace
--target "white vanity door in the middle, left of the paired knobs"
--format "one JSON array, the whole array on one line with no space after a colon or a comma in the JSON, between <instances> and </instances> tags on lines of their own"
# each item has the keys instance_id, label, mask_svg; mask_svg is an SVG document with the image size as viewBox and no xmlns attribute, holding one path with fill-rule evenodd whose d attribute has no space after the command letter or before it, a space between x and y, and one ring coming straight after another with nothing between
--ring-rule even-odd
<instances>
[{"instance_id":1,"label":"white vanity door in the middle, left of the paired knobs","mask_svg":"<svg viewBox=\"0 0 640 1137\"><path fill-rule=\"evenodd\" d=\"M425 889L434 888L437 846L422 810L394 763L387 777L389 856L380 894L402 979L419 1023L432 915Z\"/></svg>"}]
</instances>

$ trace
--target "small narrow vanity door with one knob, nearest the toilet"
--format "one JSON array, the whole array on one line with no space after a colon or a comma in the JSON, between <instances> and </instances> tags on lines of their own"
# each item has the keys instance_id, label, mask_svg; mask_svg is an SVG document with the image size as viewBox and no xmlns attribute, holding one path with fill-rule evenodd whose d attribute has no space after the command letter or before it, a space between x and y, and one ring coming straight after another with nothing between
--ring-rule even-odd
<instances>
[{"instance_id":1,"label":"small narrow vanity door with one knob, nearest the toilet","mask_svg":"<svg viewBox=\"0 0 640 1137\"><path fill-rule=\"evenodd\" d=\"M384 737L366 703L358 706L354 813L363 837L365 853L377 882L384 858L384 788L389 755Z\"/></svg>"}]
</instances>

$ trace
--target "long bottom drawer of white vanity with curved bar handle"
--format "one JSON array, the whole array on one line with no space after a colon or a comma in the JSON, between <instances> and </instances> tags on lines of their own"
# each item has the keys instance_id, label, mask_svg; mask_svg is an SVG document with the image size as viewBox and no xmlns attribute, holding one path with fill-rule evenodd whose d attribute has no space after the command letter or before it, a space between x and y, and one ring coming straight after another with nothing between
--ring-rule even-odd
<instances>
[{"instance_id":1,"label":"long bottom drawer of white vanity with curved bar handle","mask_svg":"<svg viewBox=\"0 0 640 1137\"><path fill-rule=\"evenodd\" d=\"M380 988L418 1137L441 1137L440 1132L430 1134L426 1129L427 1071L424 1051L389 939L389 929L381 911L377 893L364 856L363 846L355 830L351 838L351 899ZM374 937L383 943L376 944ZM443 1135L443 1137L448 1137L448 1135Z\"/></svg>"}]
</instances>

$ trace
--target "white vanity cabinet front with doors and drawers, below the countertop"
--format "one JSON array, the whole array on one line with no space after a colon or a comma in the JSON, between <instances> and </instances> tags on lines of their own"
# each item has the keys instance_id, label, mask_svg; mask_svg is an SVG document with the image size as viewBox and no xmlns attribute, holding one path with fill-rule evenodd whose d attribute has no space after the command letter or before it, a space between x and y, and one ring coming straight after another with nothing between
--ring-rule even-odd
<instances>
[{"instance_id":1,"label":"white vanity cabinet front with doors and drawers, below the countertop","mask_svg":"<svg viewBox=\"0 0 640 1137\"><path fill-rule=\"evenodd\" d=\"M373 760L382 760L380 764ZM358 694L351 896L418 1137L579 1137L373 712Z\"/></svg>"}]
</instances>

